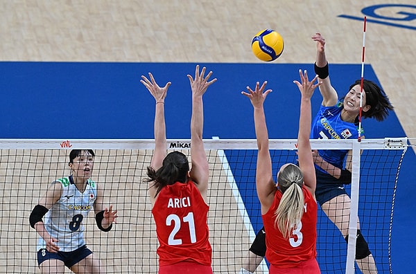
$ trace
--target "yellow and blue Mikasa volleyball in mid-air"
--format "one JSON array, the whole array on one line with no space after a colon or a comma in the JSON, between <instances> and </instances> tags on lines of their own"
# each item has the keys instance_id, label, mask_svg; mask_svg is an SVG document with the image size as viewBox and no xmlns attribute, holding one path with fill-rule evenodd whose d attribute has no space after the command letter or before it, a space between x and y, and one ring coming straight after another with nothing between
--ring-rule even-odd
<instances>
[{"instance_id":1,"label":"yellow and blue Mikasa volleyball in mid-air","mask_svg":"<svg viewBox=\"0 0 416 274\"><path fill-rule=\"evenodd\" d=\"M284 41L275 30L261 30L252 39L252 51L261 61L276 60L283 53Z\"/></svg>"}]
</instances>

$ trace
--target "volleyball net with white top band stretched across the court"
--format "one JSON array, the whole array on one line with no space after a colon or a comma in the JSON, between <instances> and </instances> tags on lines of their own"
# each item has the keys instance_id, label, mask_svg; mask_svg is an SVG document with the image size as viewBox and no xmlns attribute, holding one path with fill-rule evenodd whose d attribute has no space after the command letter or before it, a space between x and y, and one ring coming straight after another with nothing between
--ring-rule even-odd
<instances>
[{"instance_id":1,"label":"volleyball net with white top band stretched across the court","mask_svg":"<svg viewBox=\"0 0 416 274\"><path fill-rule=\"evenodd\" d=\"M212 266L214 273L238 273L263 226L255 186L257 141L213 138L204 142L210 167ZM297 163L296 142L270 140L274 176L284 163ZM407 144L406 138L311 140L313 149L355 151L353 182L346 186L352 194L351 215L360 220L379 273L392 273L392 216ZM29 225L29 215L52 181L69 176L71 149L94 149L92 180L104 189L105 204L112 204L119 215L112 230L102 232L90 212L83 219L87 247L107 273L157 273L157 236L148 184L143 181L153 147L153 140L0 139L0 273L40 272L38 235ZM189 148L190 140L168 140L168 151L189 155ZM317 248L322 273L345 273L351 258L354 271L355 249L350 244L319 209ZM355 268L355 273L361 273ZM268 273L267 262L256 273Z\"/></svg>"}]
</instances>

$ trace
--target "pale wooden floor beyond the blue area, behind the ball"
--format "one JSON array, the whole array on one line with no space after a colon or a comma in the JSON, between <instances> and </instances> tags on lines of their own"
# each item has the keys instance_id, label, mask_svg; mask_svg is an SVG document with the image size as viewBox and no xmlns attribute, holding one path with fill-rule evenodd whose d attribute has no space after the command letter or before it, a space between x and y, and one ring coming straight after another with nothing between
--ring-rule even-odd
<instances>
[{"instance_id":1,"label":"pale wooden floor beyond the blue area, behind the ball","mask_svg":"<svg viewBox=\"0 0 416 274\"><path fill-rule=\"evenodd\" d=\"M275 62L313 63L320 32L330 63L360 64L364 8L365 63L415 138L414 0L0 0L0 62L259 63L252 36L273 28L285 41Z\"/></svg>"}]
</instances>

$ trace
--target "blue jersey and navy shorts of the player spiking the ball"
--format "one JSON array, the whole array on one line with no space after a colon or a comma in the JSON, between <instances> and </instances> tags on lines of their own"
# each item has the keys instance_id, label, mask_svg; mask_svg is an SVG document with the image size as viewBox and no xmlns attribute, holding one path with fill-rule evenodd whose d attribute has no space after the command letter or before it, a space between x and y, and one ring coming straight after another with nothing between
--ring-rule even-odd
<instances>
[{"instance_id":1,"label":"blue jersey and navy shorts of the player spiking the ball","mask_svg":"<svg viewBox=\"0 0 416 274\"><path fill-rule=\"evenodd\" d=\"M335 106L324 107L321 105L318 113L312 121L312 139L351 139L358 138L358 122L345 122L341 119L343 103ZM363 131L361 131L363 134ZM318 154L331 165L343 169L347 149L320 149ZM315 165L316 170L316 199L322 203L345 194L343 183Z\"/></svg>"}]
</instances>

